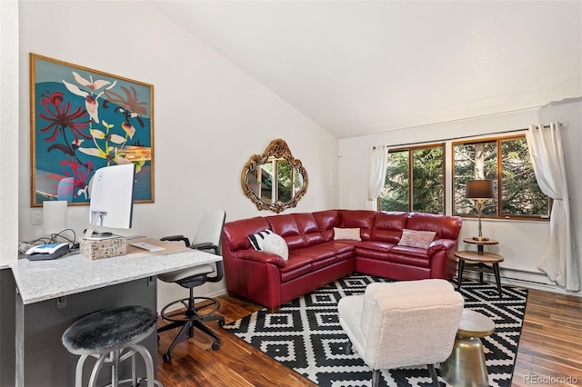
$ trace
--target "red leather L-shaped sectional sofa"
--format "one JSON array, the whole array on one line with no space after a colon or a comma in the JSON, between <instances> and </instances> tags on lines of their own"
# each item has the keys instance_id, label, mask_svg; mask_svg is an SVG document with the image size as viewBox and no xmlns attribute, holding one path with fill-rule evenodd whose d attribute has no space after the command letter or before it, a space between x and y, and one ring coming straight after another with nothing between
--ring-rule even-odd
<instances>
[{"instance_id":1,"label":"red leather L-shaped sectional sofa","mask_svg":"<svg viewBox=\"0 0 582 387\"><path fill-rule=\"evenodd\" d=\"M432 213L327 210L255 217L225 224L226 290L275 311L305 293L366 273L396 280L450 279L461 218ZM361 241L334 240L334 227L359 228ZM404 229L434 231L428 249L398 245ZM256 251L248 235L271 229L288 246L288 260Z\"/></svg>"}]
</instances>

